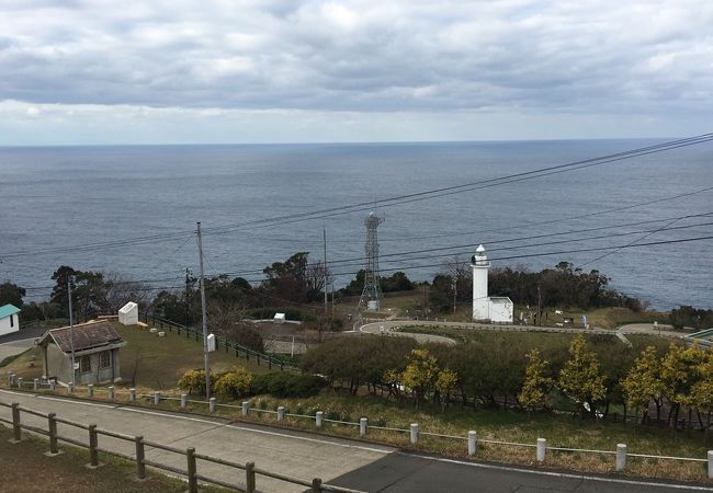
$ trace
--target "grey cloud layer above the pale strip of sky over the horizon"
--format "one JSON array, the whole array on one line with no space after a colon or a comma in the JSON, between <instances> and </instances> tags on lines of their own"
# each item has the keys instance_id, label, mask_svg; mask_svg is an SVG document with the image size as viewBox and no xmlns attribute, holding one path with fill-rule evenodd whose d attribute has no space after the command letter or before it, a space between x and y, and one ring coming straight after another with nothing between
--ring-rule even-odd
<instances>
[{"instance_id":1,"label":"grey cloud layer above the pale strip of sky over the horizon","mask_svg":"<svg viewBox=\"0 0 713 493\"><path fill-rule=\"evenodd\" d=\"M7 1L0 15L0 100L35 105L713 110L706 0Z\"/></svg>"}]
</instances>

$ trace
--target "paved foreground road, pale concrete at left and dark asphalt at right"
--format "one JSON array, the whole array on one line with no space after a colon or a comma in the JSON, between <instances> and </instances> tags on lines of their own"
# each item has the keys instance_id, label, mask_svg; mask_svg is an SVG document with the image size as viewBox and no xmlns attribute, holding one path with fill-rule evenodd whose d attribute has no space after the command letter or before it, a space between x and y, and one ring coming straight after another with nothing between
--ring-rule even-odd
<instances>
[{"instance_id":1,"label":"paved foreground road, pale concrete at left and dark asphalt at right","mask_svg":"<svg viewBox=\"0 0 713 493\"><path fill-rule=\"evenodd\" d=\"M0 390L0 401L19 402L26 408L55 412L60 417L97 423L100 427L131 435L143 434L147 439L176 447L195 447L197 452L240 462L254 460L257 467L267 470L305 479L320 477L330 483L370 492L713 492L712 488L694 484L586 477L450 460L269 426L7 390ZM9 417L10 410L0 406L0 415ZM23 420L46 426L43 419L23 414ZM86 440L84 431L61 424L59 434ZM100 447L129 455L134 451L131 444L103 436L100 437ZM149 450L147 458L184 467L183 460L170 452ZM199 473L236 481L235 471L229 472L220 466L200 462ZM304 490L263 477L258 477L258 489L269 492Z\"/></svg>"}]
</instances>

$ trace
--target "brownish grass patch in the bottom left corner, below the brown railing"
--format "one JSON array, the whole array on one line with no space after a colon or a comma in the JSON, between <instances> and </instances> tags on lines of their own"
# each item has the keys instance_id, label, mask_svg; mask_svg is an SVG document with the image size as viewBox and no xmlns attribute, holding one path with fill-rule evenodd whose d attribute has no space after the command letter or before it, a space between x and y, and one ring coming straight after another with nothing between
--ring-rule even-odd
<instances>
[{"instance_id":1,"label":"brownish grass patch in the bottom left corner, below the brown railing","mask_svg":"<svg viewBox=\"0 0 713 493\"><path fill-rule=\"evenodd\" d=\"M140 492L184 492L186 483L177 479L147 472L147 479L134 480L136 466L116 457L100 454L99 470L84 467L89 452L84 449L61 444L63 454L56 457L44 455L47 440L29 434L19 444L10 444L12 432L0 426L0 457L2 457L2 478L0 490L3 493L27 493L71 491L76 493L104 493L109 491ZM201 486L206 493L227 490Z\"/></svg>"}]
</instances>

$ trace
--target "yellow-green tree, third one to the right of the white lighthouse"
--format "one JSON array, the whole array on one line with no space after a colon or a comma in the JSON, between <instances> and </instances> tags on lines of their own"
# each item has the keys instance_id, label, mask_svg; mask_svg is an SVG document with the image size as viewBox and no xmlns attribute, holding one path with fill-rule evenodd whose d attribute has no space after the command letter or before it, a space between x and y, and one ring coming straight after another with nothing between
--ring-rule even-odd
<instances>
[{"instance_id":1,"label":"yellow-green tree, third one to the right of the white lighthouse","mask_svg":"<svg viewBox=\"0 0 713 493\"><path fill-rule=\"evenodd\" d=\"M652 400L656 400L657 409L660 409L660 398L664 392L661 362L656 354L656 347L647 346L641 353L634 366L622 379L621 386L626 403L636 410L643 410L642 424L646 423L648 404Z\"/></svg>"}]
</instances>

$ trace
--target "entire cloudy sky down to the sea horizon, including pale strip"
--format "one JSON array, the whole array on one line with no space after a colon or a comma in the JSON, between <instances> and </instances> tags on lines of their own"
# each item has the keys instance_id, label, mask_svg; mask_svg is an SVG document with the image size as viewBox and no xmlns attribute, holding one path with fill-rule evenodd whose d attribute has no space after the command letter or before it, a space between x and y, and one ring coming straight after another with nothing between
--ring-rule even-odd
<instances>
[{"instance_id":1,"label":"entire cloudy sky down to the sea horizon, including pale strip","mask_svg":"<svg viewBox=\"0 0 713 493\"><path fill-rule=\"evenodd\" d=\"M0 146L711 131L713 2L0 0Z\"/></svg>"}]
</instances>

